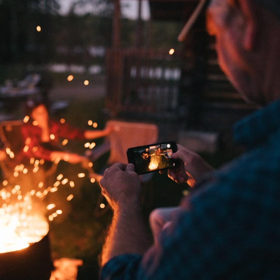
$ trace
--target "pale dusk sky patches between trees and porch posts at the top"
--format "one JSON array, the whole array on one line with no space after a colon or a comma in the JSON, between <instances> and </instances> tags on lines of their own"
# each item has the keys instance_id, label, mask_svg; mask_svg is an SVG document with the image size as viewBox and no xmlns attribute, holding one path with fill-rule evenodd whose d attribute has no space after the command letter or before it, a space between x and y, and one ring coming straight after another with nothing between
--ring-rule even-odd
<instances>
[{"instance_id":1,"label":"pale dusk sky patches between trees and porch posts at the top","mask_svg":"<svg viewBox=\"0 0 280 280\"><path fill-rule=\"evenodd\" d=\"M75 0L59 0L61 5L61 13L66 14L69 11L69 7L72 2ZM150 16L149 4L148 0L142 0L142 18L147 20ZM128 17L131 19L137 19L138 17L138 0L121 0L121 4L123 4L122 15L124 17ZM83 14L92 9L92 6L89 5L83 9L79 9L77 12ZM94 13L94 11L92 11Z\"/></svg>"}]
</instances>

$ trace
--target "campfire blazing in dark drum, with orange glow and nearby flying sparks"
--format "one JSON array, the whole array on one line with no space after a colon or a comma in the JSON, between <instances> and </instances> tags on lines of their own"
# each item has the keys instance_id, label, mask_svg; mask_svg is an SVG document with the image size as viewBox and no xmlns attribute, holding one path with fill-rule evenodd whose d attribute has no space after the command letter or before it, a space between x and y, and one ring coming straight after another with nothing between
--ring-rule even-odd
<instances>
[{"instance_id":1,"label":"campfire blazing in dark drum, with orange glow and nearby flying sparks","mask_svg":"<svg viewBox=\"0 0 280 280\"><path fill-rule=\"evenodd\" d=\"M25 118L24 123L26 120L28 121ZM97 126L96 123L92 125L94 128ZM67 142L64 139L62 145ZM23 152L28 151L29 144L30 138L27 138ZM5 145L8 160L16 159L16 154L7 141ZM95 142L85 143L85 147L89 149L95 145ZM44 172L48 173L50 170L52 173L48 174L55 174L60 160L59 157L52 159L52 167ZM63 160L68 161L66 158ZM0 279L49 279L54 269L50 254L49 222L63 216L63 201L65 199L67 203L72 200L75 183L63 174L56 176L56 180L51 177L53 184L50 180L44 180L45 177L40 172L44 163L44 159L31 157L30 164L25 161L14 168L7 165L5 169L6 180L0 187ZM82 164L82 168L89 172L92 166L89 161ZM85 176L85 173L77 174L78 178ZM95 179L91 178L91 183L94 182ZM64 189L62 194L65 195L61 200L53 194L60 188ZM69 192L65 191L66 188Z\"/></svg>"}]
</instances>

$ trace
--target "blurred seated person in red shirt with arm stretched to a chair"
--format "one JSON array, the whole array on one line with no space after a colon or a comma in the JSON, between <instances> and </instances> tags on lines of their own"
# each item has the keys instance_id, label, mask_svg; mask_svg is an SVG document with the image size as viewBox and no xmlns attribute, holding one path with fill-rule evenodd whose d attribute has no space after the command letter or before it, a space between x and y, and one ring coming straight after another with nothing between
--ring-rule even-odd
<instances>
[{"instance_id":1,"label":"blurred seated person in red shirt with arm stretched to a chair","mask_svg":"<svg viewBox=\"0 0 280 280\"><path fill-rule=\"evenodd\" d=\"M29 106L28 122L22 126L21 133L25 139L28 149L23 151L27 158L35 157L47 161L54 161L56 158L76 164L85 160L83 156L70 153L64 149L61 139L95 139L107 136L112 127L103 130L81 130L50 120L46 106L43 103Z\"/></svg>"}]
</instances>

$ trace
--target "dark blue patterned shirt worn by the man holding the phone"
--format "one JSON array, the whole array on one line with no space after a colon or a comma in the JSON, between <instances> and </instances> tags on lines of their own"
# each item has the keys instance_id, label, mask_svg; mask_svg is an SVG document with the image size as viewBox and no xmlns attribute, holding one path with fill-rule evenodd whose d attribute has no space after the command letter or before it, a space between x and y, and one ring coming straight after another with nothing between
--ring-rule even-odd
<instances>
[{"instance_id":1,"label":"dark blue patterned shirt worn by the man holding the phone","mask_svg":"<svg viewBox=\"0 0 280 280\"><path fill-rule=\"evenodd\" d=\"M159 244L101 279L280 279L280 100L234 126L247 152L184 198Z\"/></svg>"}]
</instances>

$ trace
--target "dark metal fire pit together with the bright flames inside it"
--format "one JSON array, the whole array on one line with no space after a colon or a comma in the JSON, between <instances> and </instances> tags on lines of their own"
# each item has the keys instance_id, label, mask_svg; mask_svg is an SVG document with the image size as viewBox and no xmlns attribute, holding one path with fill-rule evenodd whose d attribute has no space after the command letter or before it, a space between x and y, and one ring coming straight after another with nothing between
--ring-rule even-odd
<instances>
[{"instance_id":1,"label":"dark metal fire pit together with the bright flames inside it","mask_svg":"<svg viewBox=\"0 0 280 280\"><path fill-rule=\"evenodd\" d=\"M9 192L0 191L5 201ZM5 198L5 199L4 199ZM0 208L0 279L49 279L49 224L30 197Z\"/></svg>"}]
</instances>

